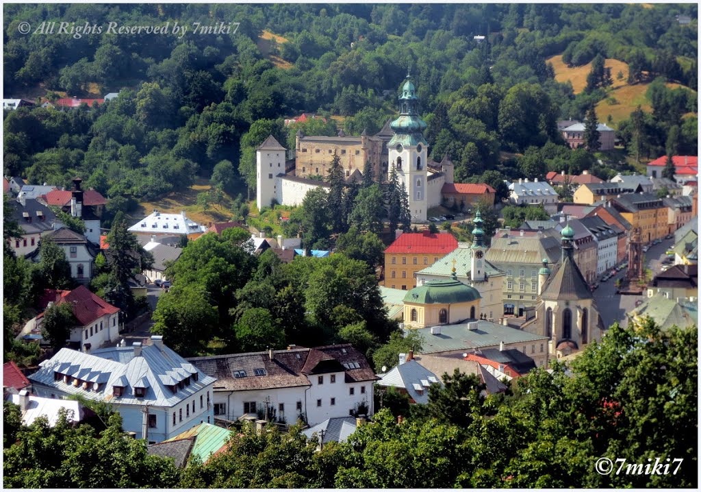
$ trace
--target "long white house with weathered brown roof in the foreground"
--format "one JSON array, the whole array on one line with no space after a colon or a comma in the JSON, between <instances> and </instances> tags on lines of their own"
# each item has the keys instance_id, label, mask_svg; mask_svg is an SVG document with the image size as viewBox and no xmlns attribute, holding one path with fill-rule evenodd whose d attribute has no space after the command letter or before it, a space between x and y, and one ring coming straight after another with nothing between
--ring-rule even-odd
<instances>
[{"instance_id":1,"label":"long white house with weathered brown roof in the foreground","mask_svg":"<svg viewBox=\"0 0 701 492\"><path fill-rule=\"evenodd\" d=\"M217 378L215 415L244 415L315 425L327 418L374 413L374 371L351 345L269 350L188 359Z\"/></svg>"}]
</instances>

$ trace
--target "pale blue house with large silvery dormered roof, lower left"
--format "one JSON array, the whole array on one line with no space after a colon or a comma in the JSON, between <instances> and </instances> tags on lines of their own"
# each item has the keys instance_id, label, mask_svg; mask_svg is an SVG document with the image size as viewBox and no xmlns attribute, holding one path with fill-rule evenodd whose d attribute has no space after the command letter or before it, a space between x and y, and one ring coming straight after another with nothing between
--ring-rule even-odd
<instances>
[{"instance_id":1,"label":"pale blue house with large silvery dormered roof, lower left","mask_svg":"<svg viewBox=\"0 0 701 492\"><path fill-rule=\"evenodd\" d=\"M215 379L163 345L163 337L153 335L151 342L92 354L61 349L29 380L40 397L79 394L109 402L121 415L123 429L149 443L213 422Z\"/></svg>"}]
</instances>

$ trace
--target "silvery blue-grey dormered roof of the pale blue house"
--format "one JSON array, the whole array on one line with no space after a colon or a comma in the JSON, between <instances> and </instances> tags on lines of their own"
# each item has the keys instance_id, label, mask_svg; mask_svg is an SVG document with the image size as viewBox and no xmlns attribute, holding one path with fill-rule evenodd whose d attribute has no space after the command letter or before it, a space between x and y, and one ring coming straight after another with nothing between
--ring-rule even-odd
<instances>
[{"instance_id":1,"label":"silvery blue-grey dormered roof of the pale blue house","mask_svg":"<svg viewBox=\"0 0 701 492\"><path fill-rule=\"evenodd\" d=\"M99 401L109 401L115 404L153 406L174 406L180 401L191 397L199 390L215 382L212 378L163 345L146 345L141 354L135 357L135 347L114 347L95 350L92 354L76 350L61 349L51 359L43 361L41 368L29 376L32 383L57 390L80 394L83 397ZM54 380L54 371L71 375L83 381L106 383L97 390L83 390L82 386L75 387ZM174 385L186 377L198 374L198 380L190 380L190 384L172 392L167 386ZM113 386L123 386L121 397L114 397ZM144 397L137 398L135 387L145 387Z\"/></svg>"}]
</instances>

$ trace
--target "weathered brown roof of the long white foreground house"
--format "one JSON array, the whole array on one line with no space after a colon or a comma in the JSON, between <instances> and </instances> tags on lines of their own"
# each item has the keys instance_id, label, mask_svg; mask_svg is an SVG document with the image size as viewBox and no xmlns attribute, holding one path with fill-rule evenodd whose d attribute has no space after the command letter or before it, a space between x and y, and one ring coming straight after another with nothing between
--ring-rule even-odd
<instances>
[{"instance_id":1,"label":"weathered brown roof of the long white foreground house","mask_svg":"<svg viewBox=\"0 0 701 492\"><path fill-rule=\"evenodd\" d=\"M345 353L343 353L345 351ZM311 355L311 357L310 357ZM200 371L217 378L217 388L230 391L266 390L269 388L311 386L308 373L323 371L321 361L335 361L337 371L345 371L346 380L376 380L372 368L350 344L329 345L315 349L294 348L268 352L191 357L187 359ZM358 368L343 364L355 362ZM319 366L319 367L318 367ZM256 370L259 371L256 371Z\"/></svg>"}]
</instances>

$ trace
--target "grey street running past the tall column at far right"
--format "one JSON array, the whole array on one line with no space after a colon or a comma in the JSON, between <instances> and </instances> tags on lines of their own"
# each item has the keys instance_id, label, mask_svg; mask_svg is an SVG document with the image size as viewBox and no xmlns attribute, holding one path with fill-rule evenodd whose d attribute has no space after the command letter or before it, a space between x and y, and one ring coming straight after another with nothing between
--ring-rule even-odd
<instances>
[{"instance_id":1,"label":"grey street running past the tall column at far right","mask_svg":"<svg viewBox=\"0 0 701 492\"><path fill-rule=\"evenodd\" d=\"M660 272L662 268L662 260L665 258L665 251L672 247L674 239L662 239L660 244L651 246L645 253L646 268L653 271L653 277ZM604 321L604 326L608 328L615 321L618 321L622 326L627 324L625 316L626 312L634 309L637 300L644 300L643 295L618 295L615 293L615 281L625 276L627 269L615 274L615 277L608 279L606 282L601 282L599 288L594 291L594 300L597 301L601 320Z\"/></svg>"}]
</instances>

